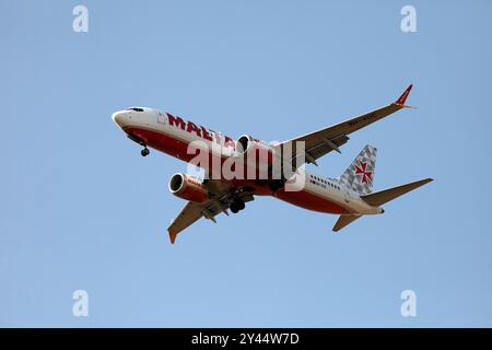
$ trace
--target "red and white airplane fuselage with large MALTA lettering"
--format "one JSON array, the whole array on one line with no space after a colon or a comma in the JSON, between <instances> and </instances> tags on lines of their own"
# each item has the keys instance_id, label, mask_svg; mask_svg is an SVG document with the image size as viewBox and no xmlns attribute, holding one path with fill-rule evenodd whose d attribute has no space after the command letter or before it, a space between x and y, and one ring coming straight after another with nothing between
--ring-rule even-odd
<instances>
[{"instance_id":1,"label":"red and white airplane fuselage with large MALTA lettering","mask_svg":"<svg viewBox=\"0 0 492 350\"><path fill-rule=\"evenodd\" d=\"M236 154L236 142L220 132L185 120L171 114L152 108L133 107L117 112L114 121L134 141L189 162L188 147L194 141L201 141L213 155L227 160ZM296 175L300 176L300 175ZM256 195L271 195L292 205L327 213L338 214L378 214L383 210L367 205L355 191L343 186L335 178L304 172L298 182L298 190L281 189L270 191L265 186L247 179L234 180L255 188Z\"/></svg>"}]
</instances>

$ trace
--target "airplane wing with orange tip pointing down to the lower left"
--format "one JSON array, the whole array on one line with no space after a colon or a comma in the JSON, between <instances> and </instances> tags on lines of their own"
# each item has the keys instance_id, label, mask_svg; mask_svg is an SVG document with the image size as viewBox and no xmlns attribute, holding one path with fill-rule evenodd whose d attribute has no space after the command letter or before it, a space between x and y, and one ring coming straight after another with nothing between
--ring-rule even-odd
<instances>
[{"instance_id":1,"label":"airplane wing with orange tip pointing down to the lower left","mask_svg":"<svg viewBox=\"0 0 492 350\"><path fill-rule=\"evenodd\" d=\"M212 187L213 189L221 187L216 185L218 184L215 180L210 180L208 183L208 186ZM236 198L243 200L244 202L254 200L255 198L253 196L253 189L249 188L223 188L220 191L212 191L213 197L206 200L204 202L188 201L181 209L179 214L167 228L171 243L174 244L179 232L194 224L202 217L216 223L215 215L220 214L221 212L229 215L227 209Z\"/></svg>"}]
</instances>

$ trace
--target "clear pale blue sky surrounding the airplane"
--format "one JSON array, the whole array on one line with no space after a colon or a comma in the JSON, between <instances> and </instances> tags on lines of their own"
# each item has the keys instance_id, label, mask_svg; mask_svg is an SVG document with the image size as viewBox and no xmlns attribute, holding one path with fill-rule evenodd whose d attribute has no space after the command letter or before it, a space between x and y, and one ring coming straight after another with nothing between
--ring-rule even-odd
<instances>
[{"instance_id":1,"label":"clear pale blue sky surrounding the airplane","mask_svg":"<svg viewBox=\"0 0 492 350\"><path fill-rule=\"evenodd\" d=\"M72 9L89 9L89 33ZM402 33L400 10L417 9ZM0 326L492 326L490 1L0 2ZM375 187L433 177L335 235L258 198L171 245L186 164L110 119L156 107L284 140L383 106L309 170L378 148ZM89 292L90 316L72 315ZM418 316L400 315L414 290Z\"/></svg>"}]
</instances>

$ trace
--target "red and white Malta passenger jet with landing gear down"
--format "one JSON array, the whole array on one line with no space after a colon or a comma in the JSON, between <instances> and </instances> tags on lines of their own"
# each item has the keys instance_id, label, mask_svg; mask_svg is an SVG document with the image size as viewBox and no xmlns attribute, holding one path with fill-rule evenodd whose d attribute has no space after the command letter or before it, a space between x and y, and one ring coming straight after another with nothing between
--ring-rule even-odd
<instances>
[{"instance_id":1,"label":"red and white Malta passenger jet with landing gear down","mask_svg":"<svg viewBox=\"0 0 492 350\"><path fill-rule=\"evenodd\" d=\"M350 133L397 110L410 107L405 103L411 89L410 84L398 100L382 108L277 144L268 144L249 135L243 135L234 140L177 115L148 107L119 110L114 113L112 118L130 140L143 147L142 156L149 155L149 148L152 148L181 161L194 162L196 154L189 152L189 147L192 142L200 141L211 150L215 150L215 154L212 154L214 151L207 151L208 155L218 156L221 164L258 150L266 150L269 155L266 166L270 170L272 159L276 159L272 154L276 152L280 154L290 148L294 155L288 163L295 172L293 175L295 177L304 164L317 166L316 161L329 152L341 153L340 147L349 140ZM303 142L304 148L298 142ZM167 228L171 243L174 244L177 234L200 218L216 222L218 214L229 215L229 210L237 213L244 210L245 203L254 200L255 196L273 196L307 210L338 214L340 217L332 228L332 231L338 232L363 215L384 213L380 206L433 180L425 178L373 192L376 152L375 147L367 144L345 172L336 178L304 172L302 187L298 190L286 190L286 184L292 178L283 176L273 178L268 171L269 175L266 178L229 179L220 176L210 178L207 176L210 170L207 168L203 179L177 173L171 177L168 188L173 195L187 200L187 203ZM249 167L259 166L258 162L246 163Z\"/></svg>"}]
</instances>

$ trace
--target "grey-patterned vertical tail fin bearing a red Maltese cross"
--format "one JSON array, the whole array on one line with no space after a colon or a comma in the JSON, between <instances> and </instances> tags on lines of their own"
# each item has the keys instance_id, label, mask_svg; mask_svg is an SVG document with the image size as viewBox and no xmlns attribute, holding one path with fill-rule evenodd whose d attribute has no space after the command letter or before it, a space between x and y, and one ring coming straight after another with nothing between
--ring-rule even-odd
<instances>
[{"instance_id":1,"label":"grey-patterned vertical tail fin bearing a red Maltese cross","mask_svg":"<svg viewBox=\"0 0 492 350\"><path fill-rule=\"evenodd\" d=\"M367 144L340 176L340 184L364 196L373 190L374 171L376 170L377 149Z\"/></svg>"}]
</instances>

